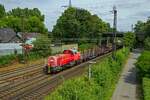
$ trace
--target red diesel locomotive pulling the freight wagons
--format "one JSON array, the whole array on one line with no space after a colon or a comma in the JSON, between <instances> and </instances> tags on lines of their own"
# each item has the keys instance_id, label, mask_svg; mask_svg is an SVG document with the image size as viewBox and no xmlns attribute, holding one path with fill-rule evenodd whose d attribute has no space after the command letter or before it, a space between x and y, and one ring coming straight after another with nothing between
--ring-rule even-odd
<instances>
[{"instance_id":1,"label":"red diesel locomotive pulling the freight wagons","mask_svg":"<svg viewBox=\"0 0 150 100\"><path fill-rule=\"evenodd\" d=\"M64 50L63 54L50 56L45 66L46 73L58 72L67 66L77 64L81 59L81 54L75 49Z\"/></svg>"}]
</instances>

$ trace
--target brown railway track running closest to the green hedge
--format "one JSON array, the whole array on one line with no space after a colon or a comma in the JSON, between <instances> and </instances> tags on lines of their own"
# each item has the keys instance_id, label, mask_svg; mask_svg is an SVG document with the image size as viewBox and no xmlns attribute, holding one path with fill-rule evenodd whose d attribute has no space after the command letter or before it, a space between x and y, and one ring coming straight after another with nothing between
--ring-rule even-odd
<instances>
[{"instance_id":1,"label":"brown railway track running closest to the green hedge","mask_svg":"<svg viewBox=\"0 0 150 100\"><path fill-rule=\"evenodd\" d=\"M79 70L80 69L80 70ZM52 91L56 86L61 84L64 79L69 79L71 77L81 75L83 73L83 70L85 70L84 67L82 68L76 68L76 69L71 69L68 72L61 73L58 76L50 78L50 80L45 81L43 84L39 85L38 87L31 89L28 92L20 93L15 96L15 99L24 99L24 100L29 100L29 99L43 99L45 95L47 95L50 91ZM68 76L68 73L69 76ZM24 98L23 98L24 97Z\"/></svg>"}]
</instances>

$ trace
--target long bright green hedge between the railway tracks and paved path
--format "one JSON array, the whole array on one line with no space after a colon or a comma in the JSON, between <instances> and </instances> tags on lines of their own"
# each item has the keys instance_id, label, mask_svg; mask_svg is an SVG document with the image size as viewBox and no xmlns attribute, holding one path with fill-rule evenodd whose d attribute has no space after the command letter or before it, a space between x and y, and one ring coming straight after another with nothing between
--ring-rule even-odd
<instances>
[{"instance_id":1,"label":"long bright green hedge between the railway tracks and paved path","mask_svg":"<svg viewBox=\"0 0 150 100\"><path fill-rule=\"evenodd\" d=\"M109 100L128 53L124 48L116 53L116 61L104 58L92 66L90 80L87 75L67 80L45 100Z\"/></svg>"}]
</instances>

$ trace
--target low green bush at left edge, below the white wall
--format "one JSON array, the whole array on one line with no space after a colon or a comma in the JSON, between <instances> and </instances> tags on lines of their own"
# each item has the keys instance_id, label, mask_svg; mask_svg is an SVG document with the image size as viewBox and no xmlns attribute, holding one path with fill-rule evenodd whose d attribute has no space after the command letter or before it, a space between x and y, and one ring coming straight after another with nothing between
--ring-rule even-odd
<instances>
[{"instance_id":1,"label":"low green bush at left edge, below the white wall","mask_svg":"<svg viewBox=\"0 0 150 100\"><path fill-rule=\"evenodd\" d=\"M4 67L7 64L11 64L16 59L15 55L7 55L0 57L0 67Z\"/></svg>"}]
</instances>

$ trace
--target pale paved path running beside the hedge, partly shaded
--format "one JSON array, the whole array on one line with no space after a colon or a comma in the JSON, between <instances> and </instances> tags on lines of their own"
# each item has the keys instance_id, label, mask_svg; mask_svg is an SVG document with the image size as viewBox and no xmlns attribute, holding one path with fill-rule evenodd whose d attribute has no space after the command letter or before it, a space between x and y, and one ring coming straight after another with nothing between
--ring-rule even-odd
<instances>
[{"instance_id":1,"label":"pale paved path running beside the hedge, partly shaded","mask_svg":"<svg viewBox=\"0 0 150 100\"><path fill-rule=\"evenodd\" d=\"M139 100L137 94L137 73L134 66L139 55L139 50L134 50L134 52L131 53L114 91L112 100Z\"/></svg>"}]
</instances>

